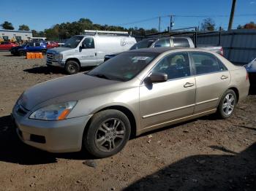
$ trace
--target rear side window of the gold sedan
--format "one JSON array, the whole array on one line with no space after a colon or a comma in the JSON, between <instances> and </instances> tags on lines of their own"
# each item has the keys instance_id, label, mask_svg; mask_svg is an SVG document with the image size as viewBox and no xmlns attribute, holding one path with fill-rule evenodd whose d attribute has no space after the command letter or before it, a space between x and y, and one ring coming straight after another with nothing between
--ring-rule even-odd
<instances>
[{"instance_id":1,"label":"rear side window of the gold sedan","mask_svg":"<svg viewBox=\"0 0 256 191\"><path fill-rule=\"evenodd\" d=\"M196 74L207 74L217 71L225 71L227 68L214 55L208 53L192 53Z\"/></svg>"}]
</instances>

